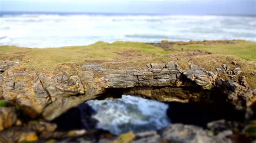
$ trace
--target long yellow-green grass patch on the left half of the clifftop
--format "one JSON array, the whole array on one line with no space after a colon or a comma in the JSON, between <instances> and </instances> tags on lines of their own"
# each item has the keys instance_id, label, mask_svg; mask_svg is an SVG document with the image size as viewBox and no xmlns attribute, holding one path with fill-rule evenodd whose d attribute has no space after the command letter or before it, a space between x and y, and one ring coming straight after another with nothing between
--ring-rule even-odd
<instances>
[{"instance_id":1,"label":"long yellow-green grass patch on the left half of the clifftop","mask_svg":"<svg viewBox=\"0 0 256 143\"><path fill-rule=\"evenodd\" d=\"M78 63L86 60L116 60L128 58L131 55L134 56L134 59L137 59L136 56L160 56L170 53L172 52L166 52L162 48L141 42L117 41L113 44L97 42L88 46L30 49L22 66L27 70L52 70L62 63Z\"/></svg>"}]
</instances>

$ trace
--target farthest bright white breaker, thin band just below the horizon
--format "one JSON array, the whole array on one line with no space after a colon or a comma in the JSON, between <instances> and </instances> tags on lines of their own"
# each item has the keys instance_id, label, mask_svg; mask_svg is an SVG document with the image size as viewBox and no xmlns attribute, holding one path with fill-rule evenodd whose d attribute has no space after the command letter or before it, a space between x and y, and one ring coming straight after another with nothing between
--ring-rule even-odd
<instances>
[{"instance_id":1,"label":"farthest bright white breaker, thin band just below the horizon","mask_svg":"<svg viewBox=\"0 0 256 143\"><path fill-rule=\"evenodd\" d=\"M83 20L102 20L107 19L113 22L200 22L201 20L211 20L215 19L216 16L104 16L104 15L53 15L53 14L23 14L23 15L4 15L2 17L3 20L8 21L25 21L25 22L33 22L33 21L44 21L44 20L54 20L54 19L83 19ZM218 17L217 17L218 18Z\"/></svg>"}]
</instances>

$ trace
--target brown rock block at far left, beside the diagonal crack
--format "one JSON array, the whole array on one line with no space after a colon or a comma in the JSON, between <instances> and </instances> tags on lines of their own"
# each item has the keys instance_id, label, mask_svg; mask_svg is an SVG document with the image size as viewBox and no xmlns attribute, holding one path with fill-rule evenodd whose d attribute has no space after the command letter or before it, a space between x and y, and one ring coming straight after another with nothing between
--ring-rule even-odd
<instances>
[{"instance_id":1,"label":"brown rock block at far left, beside the diagonal crack","mask_svg":"<svg viewBox=\"0 0 256 143\"><path fill-rule=\"evenodd\" d=\"M50 96L35 73L8 71L3 76L4 99L15 101L31 117L36 117L46 105L50 104Z\"/></svg>"}]
</instances>

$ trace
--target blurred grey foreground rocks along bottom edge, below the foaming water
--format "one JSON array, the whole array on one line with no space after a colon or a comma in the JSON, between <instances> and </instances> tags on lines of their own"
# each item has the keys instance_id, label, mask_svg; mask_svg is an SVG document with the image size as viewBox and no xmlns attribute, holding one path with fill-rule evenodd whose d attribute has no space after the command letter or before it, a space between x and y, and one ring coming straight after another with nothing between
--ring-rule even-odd
<instances>
[{"instance_id":1,"label":"blurred grey foreground rocks along bottom edge, below the foaming water","mask_svg":"<svg viewBox=\"0 0 256 143\"><path fill-rule=\"evenodd\" d=\"M116 137L115 135L99 135L100 138L88 138L89 135L84 135L76 139L64 139L62 142L132 142L132 143L161 143L161 142L232 142L230 136L233 132L230 130L222 131L218 134L204 130L203 128L193 125L173 124L158 131L146 131L133 134L127 132ZM104 137L105 136L105 137ZM97 141L98 140L98 141Z\"/></svg>"}]
</instances>

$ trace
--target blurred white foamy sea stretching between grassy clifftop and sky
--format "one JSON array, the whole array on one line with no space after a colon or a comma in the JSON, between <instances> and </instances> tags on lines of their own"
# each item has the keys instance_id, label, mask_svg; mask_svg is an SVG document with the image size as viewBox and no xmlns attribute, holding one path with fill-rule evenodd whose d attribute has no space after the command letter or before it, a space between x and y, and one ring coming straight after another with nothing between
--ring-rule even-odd
<instances>
[{"instance_id":1,"label":"blurred white foamy sea stretching between grassy clifftop and sky","mask_svg":"<svg viewBox=\"0 0 256 143\"><path fill-rule=\"evenodd\" d=\"M0 12L0 45L46 48L164 39L256 41L256 16Z\"/></svg>"}]
</instances>

